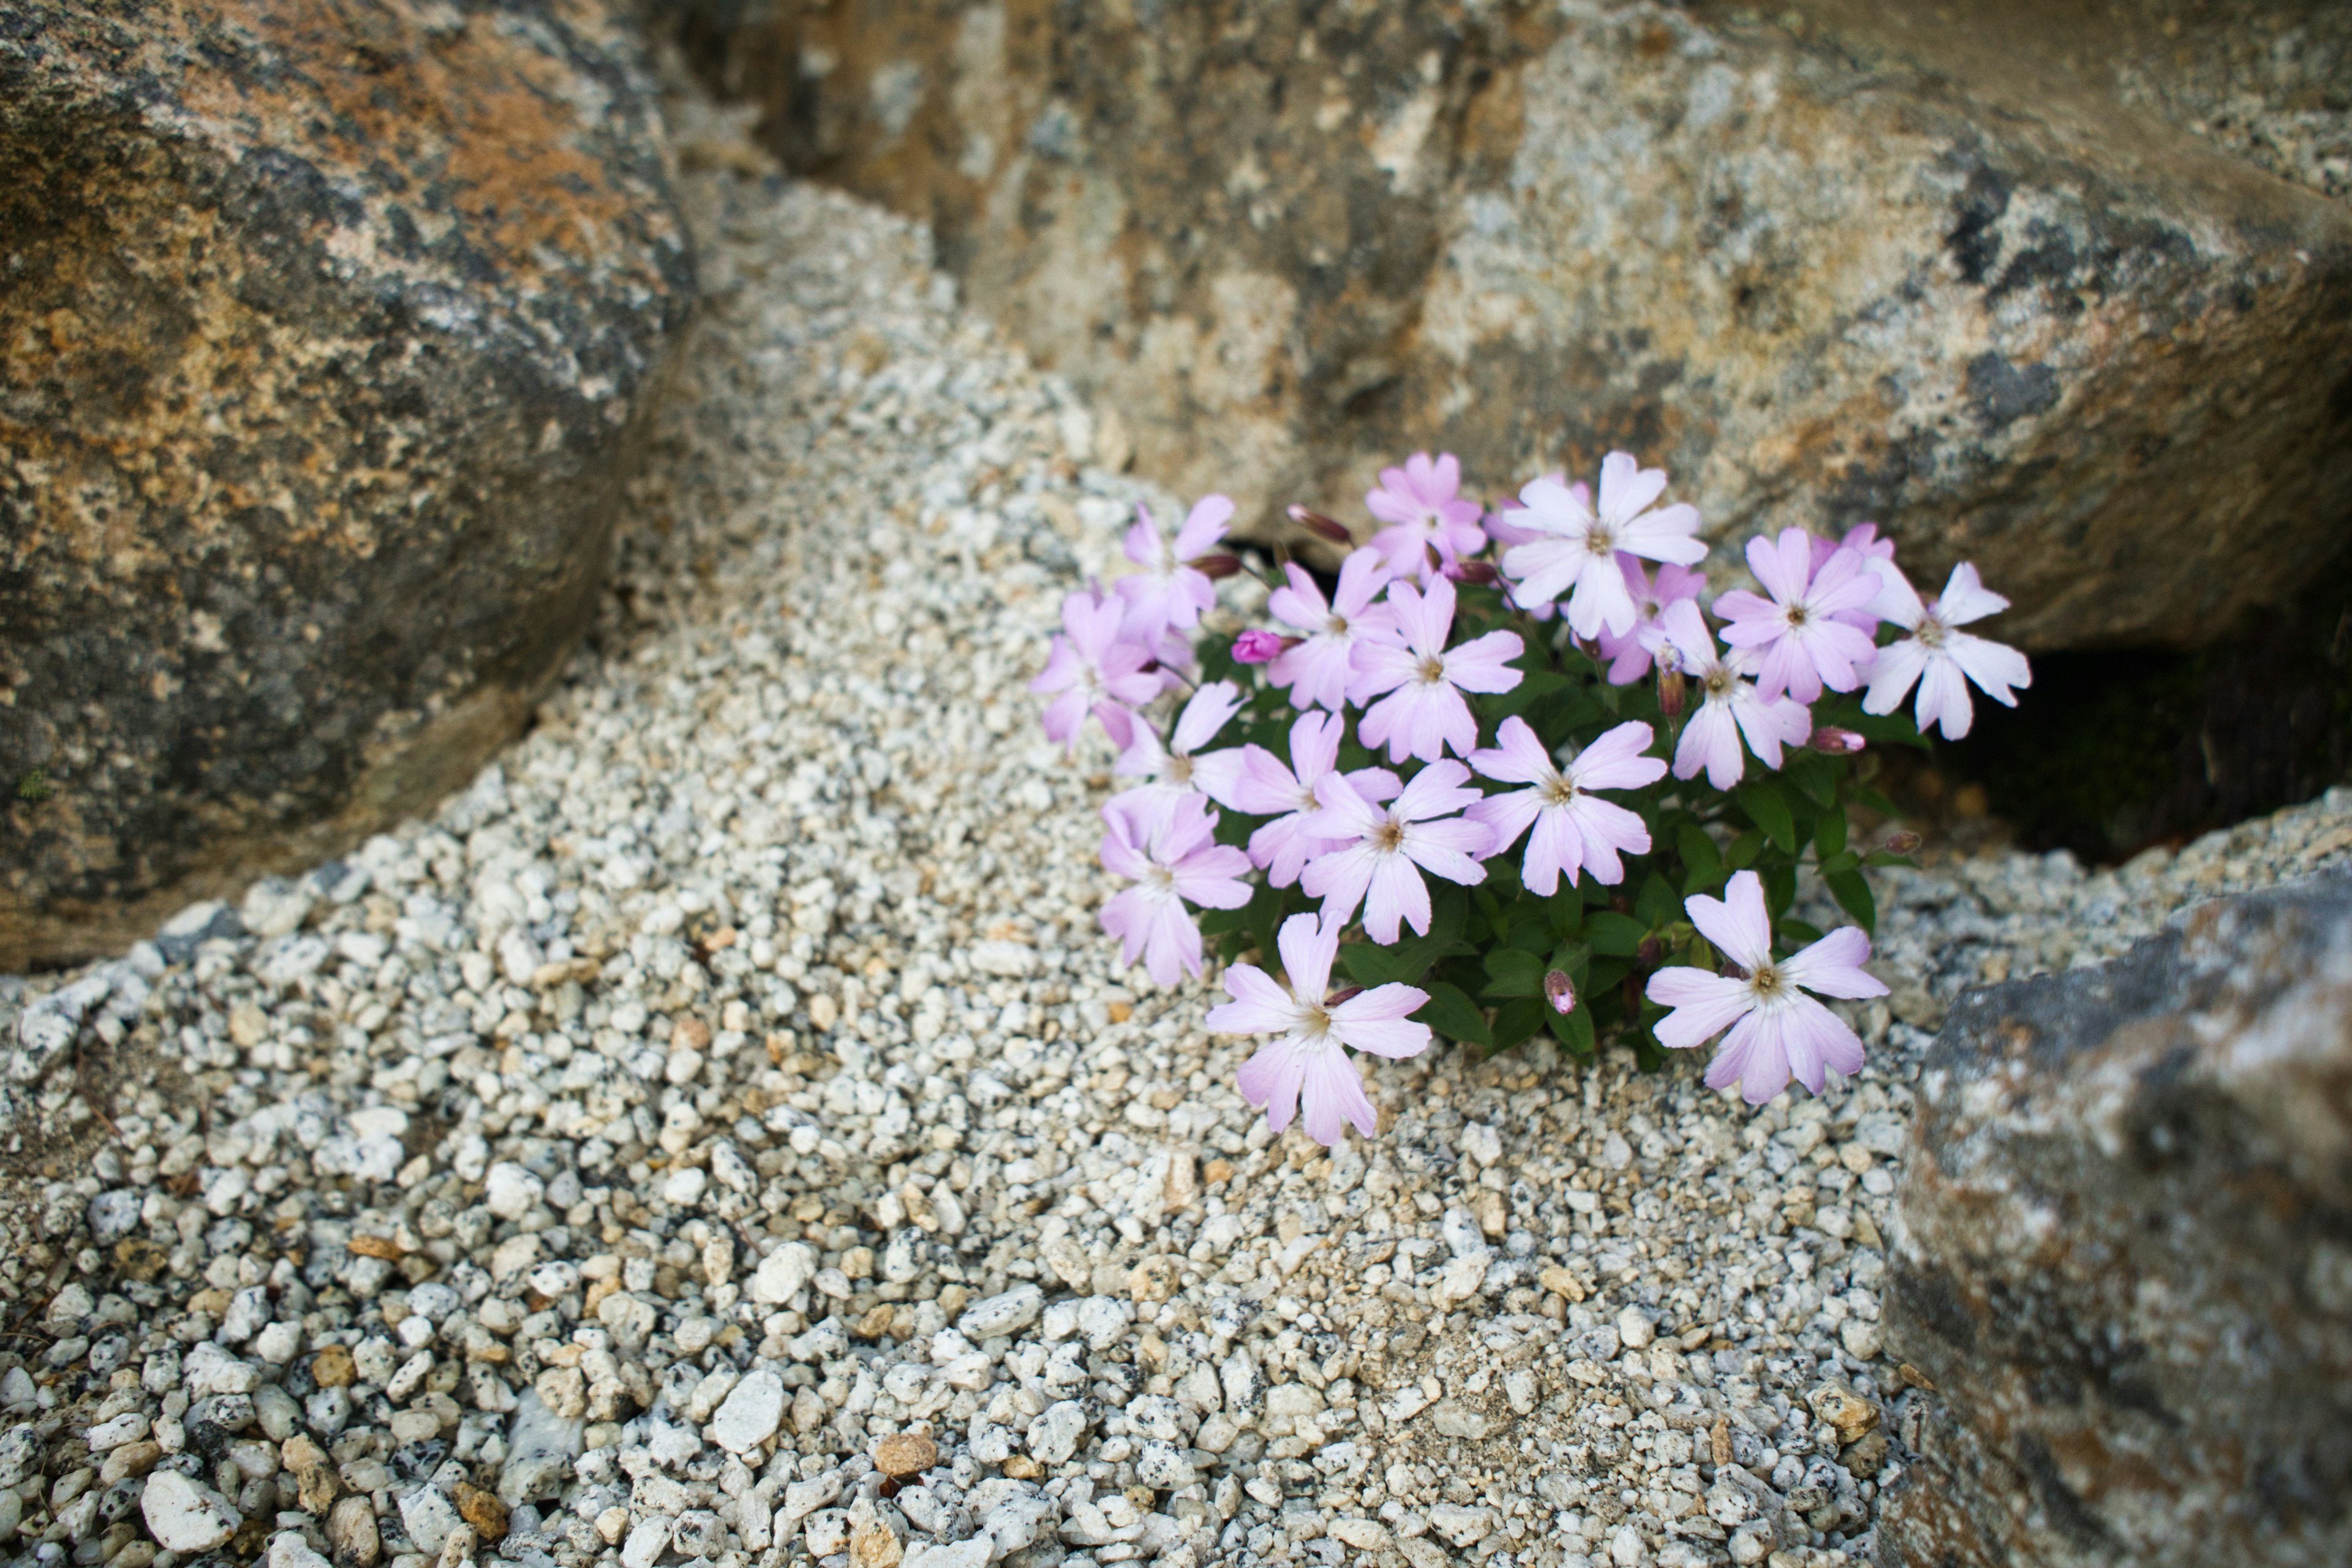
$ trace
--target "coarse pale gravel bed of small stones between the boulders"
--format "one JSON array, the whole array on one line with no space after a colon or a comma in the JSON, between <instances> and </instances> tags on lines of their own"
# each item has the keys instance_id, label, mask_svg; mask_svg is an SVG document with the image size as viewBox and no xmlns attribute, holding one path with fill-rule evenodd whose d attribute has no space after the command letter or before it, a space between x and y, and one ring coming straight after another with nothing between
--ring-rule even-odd
<instances>
[{"instance_id":1,"label":"coarse pale gravel bed of small stones between the boulders","mask_svg":"<svg viewBox=\"0 0 2352 1568\"><path fill-rule=\"evenodd\" d=\"M1818 1100L1432 1051L1369 1072L1381 1138L1270 1138L1214 976L1155 992L1096 929L1108 757L1023 689L1148 491L915 226L682 125L713 301L536 729L348 860L0 987L0 1549L1865 1556L1945 1001L2343 860L2352 792L2119 872L1891 872L1893 994Z\"/></svg>"}]
</instances>

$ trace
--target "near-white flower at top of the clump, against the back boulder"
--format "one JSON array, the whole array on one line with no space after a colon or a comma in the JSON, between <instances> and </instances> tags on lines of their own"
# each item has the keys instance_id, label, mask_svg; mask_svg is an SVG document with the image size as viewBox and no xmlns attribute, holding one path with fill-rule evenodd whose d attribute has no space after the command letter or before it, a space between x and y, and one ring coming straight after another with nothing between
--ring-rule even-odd
<instances>
[{"instance_id":1,"label":"near-white flower at top of the clump, against the back boulder","mask_svg":"<svg viewBox=\"0 0 2352 1568\"><path fill-rule=\"evenodd\" d=\"M1661 494L1665 470L1642 468L1625 451L1602 458L1597 512L1559 480L1534 480L1519 491L1526 510L1512 515L1510 527L1534 529L1543 538L1503 552L1505 576L1519 578L1515 602L1557 599L1573 588L1569 625L1578 637L1630 632L1635 609L1616 564L1618 550L1679 567L1696 567L1708 557L1698 541L1698 508L1677 503L1649 510Z\"/></svg>"}]
</instances>

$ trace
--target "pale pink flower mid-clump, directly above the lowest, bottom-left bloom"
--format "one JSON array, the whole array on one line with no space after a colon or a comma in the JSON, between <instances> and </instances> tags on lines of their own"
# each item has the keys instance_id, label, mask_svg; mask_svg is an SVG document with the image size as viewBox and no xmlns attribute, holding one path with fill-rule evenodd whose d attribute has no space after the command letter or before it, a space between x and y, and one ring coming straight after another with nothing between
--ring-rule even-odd
<instances>
[{"instance_id":1,"label":"pale pink flower mid-clump, directly above the lowest, bottom-left bloom","mask_svg":"<svg viewBox=\"0 0 2352 1568\"><path fill-rule=\"evenodd\" d=\"M1463 788L1468 778L1470 769L1451 757L1432 762L1385 809L1364 799L1338 773L1315 780L1322 811L1301 827L1338 849L1310 860L1298 886L1308 898L1324 900L1327 926L1338 931L1364 905L1364 931L1383 947L1397 940L1399 919L1428 936L1430 889L1421 879L1423 870L1461 884L1486 879L1479 858L1494 851L1494 837L1484 825L1451 816L1479 799L1477 790Z\"/></svg>"}]
</instances>

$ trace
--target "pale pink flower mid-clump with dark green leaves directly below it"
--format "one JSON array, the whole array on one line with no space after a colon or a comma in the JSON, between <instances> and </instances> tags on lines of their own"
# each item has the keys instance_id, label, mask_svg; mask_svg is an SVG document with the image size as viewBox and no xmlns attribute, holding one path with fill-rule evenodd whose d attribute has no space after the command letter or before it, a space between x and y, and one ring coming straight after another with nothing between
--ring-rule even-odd
<instances>
[{"instance_id":1,"label":"pale pink flower mid-clump with dark green leaves directly below it","mask_svg":"<svg viewBox=\"0 0 2352 1568\"><path fill-rule=\"evenodd\" d=\"M1625 806L1595 799L1590 792L1639 790L1665 778L1665 764L1642 755L1649 743L1649 724L1618 724L1559 769L1526 719L1503 719L1496 750L1470 752L1470 766L1486 778L1534 788L1489 795L1465 816L1494 832L1498 853L1522 832L1529 835L1526 860L1519 865L1519 882L1529 891L1550 896L1559 886L1559 872L1566 872L1573 886L1576 867L1585 867L1604 886L1623 882L1625 865L1618 851L1649 853L1649 827Z\"/></svg>"}]
</instances>

